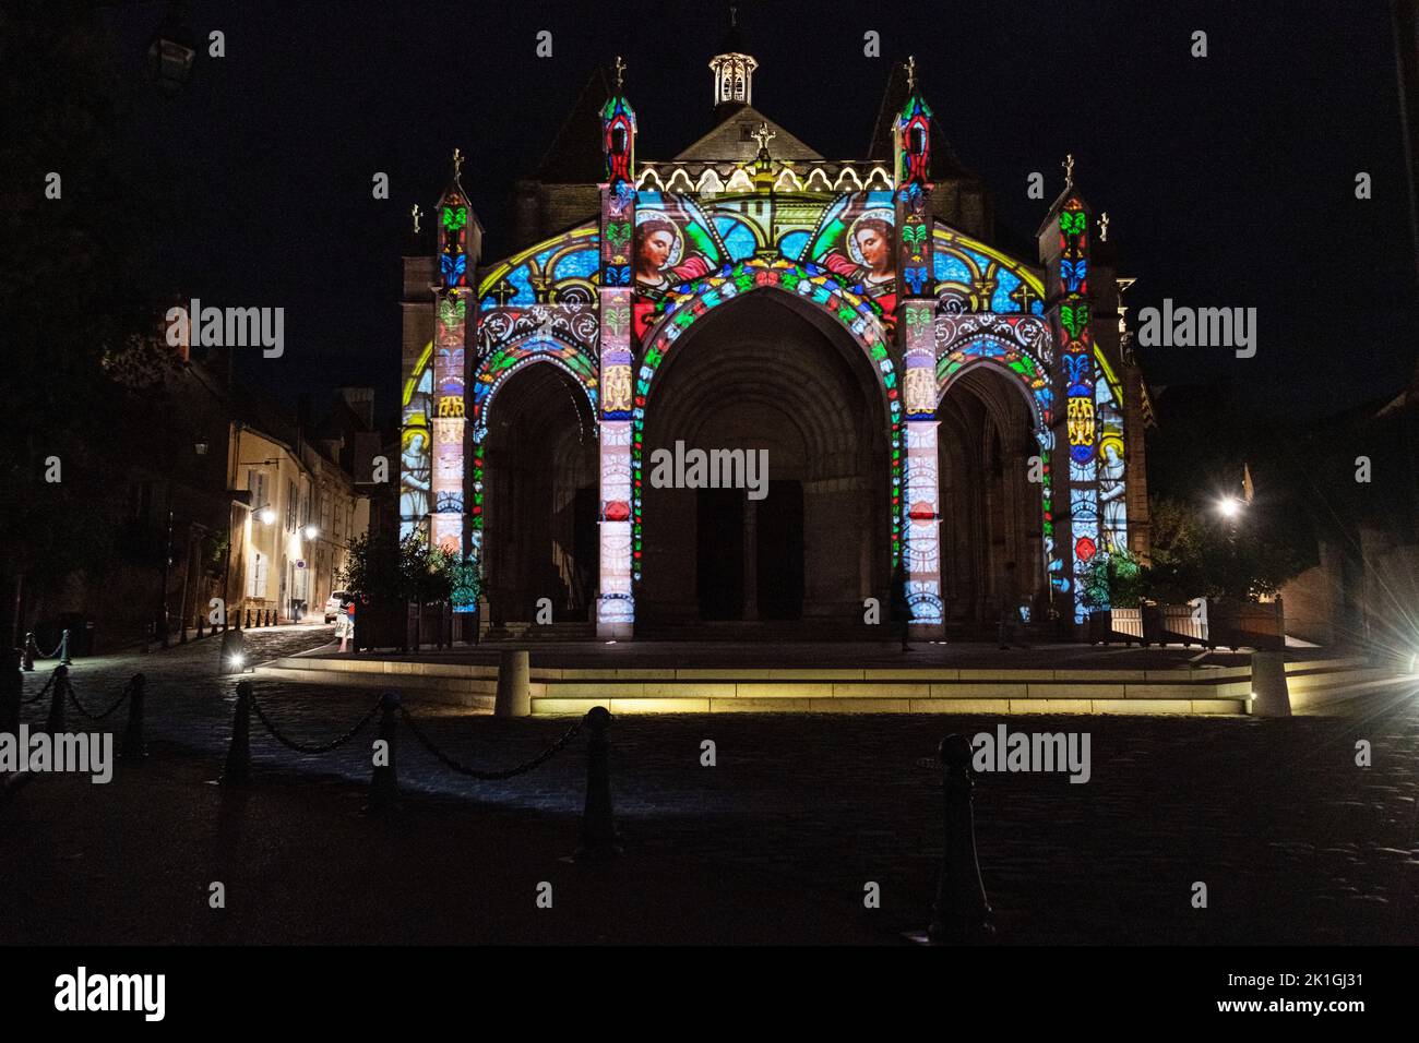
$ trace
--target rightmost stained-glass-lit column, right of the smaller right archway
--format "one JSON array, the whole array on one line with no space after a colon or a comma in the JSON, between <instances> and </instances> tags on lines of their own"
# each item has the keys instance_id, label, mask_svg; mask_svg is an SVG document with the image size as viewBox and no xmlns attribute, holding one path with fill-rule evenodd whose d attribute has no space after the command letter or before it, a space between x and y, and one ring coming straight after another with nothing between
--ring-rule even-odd
<instances>
[{"instance_id":1,"label":"rightmost stained-glass-lit column, right of the smaller right archway","mask_svg":"<svg viewBox=\"0 0 1419 1043\"><path fill-rule=\"evenodd\" d=\"M1054 331L1053 498L1056 549L1064 575L1051 575L1067 593L1070 619L1083 624L1084 579L1100 551L1098 423L1095 414L1094 333L1088 295L1090 210L1074 190L1074 159L1064 163L1064 192L1040 227L1040 261L1046 268L1046 314ZM1067 480L1061 481L1067 475ZM1064 509L1059 509L1063 507Z\"/></svg>"}]
</instances>

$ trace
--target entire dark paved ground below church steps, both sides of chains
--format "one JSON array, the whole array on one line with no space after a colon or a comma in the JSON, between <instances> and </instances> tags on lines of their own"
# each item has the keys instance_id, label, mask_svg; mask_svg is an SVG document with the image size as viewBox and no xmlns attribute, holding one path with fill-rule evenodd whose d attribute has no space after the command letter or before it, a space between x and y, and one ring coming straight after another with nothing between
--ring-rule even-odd
<instances>
[{"instance_id":1,"label":"entire dark paved ground below church steps, both sides of chains","mask_svg":"<svg viewBox=\"0 0 1419 1043\"><path fill-rule=\"evenodd\" d=\"M326 636L324 627L277 627L253 631L250 641L271 658ZM768 934L895 942L929 920L942 850L935 746L948 732L999 724L837 714L620 718L609 734L626 868L568 876L559 859L575 847L586 786L580 736L528 775L474 782L403 729L404 813L382 823L358 815L372 731L332 754L304 755L254 719L254 785L234 805L230 790L206 785L221 769L237 680L217 671L216 654L207 640L75 661L74 690L89 708L106 705L135 671L146 674L152 756L136 768L121 762L112 788L41 778L0 807L0 859L17 884L7 898L14 915L0 921L4 941L41 939L40 914L77 914L74 894L84 893L108 894L108 912L98 922L74 920L68 939L379 941L394 931L406 941L556 941L648 931L666 941ZM27 675L27 695L48 666ZM376 694L255 683L271 719L305 744L343 732ZM45 701L26 707L26 719L38 725L44 710ZM487 769L536 755L570 724L427 702L410 711L440 749ZM70 728L82 727L71 710ZM122 732L118 722L106 727ZM1412 691L1352 701L1335 717L1050 715L1012 717L1009 728L1087 732L1091 769L1086 785L1059 772L976 775L981 871L1002 941L1419 941ZM707 739L714 766L701 763ZM1369 768L1355 765L1359 739L1372 746ZM153 832L169 820L180 827ZM400 880L393 897L375 890L379 866ZM213 934L200 903L179 912L175 891L197 895L207 873L250 876L245 887L257 888L271 917L248 908L240 931L231 921L236 934ZM566 934L519 912L534 910L534 885L556 873L568 881L559 903L580 895L595 907L569 912L578 922L563 922ZM123 881L123 895L91 891L98 881ZM372 888L363 897L360 881ZM1206 908L1192 905L1198 881ZM864 908L868 883L880 888L880 908ZM319 900L345 888L355 891ZM477 922L470 890L480 895ZM390 901L399 917L369 915ZM322 912L333 908L346 910L343 922ZM766 932L766 924L782 932Z\"/></svg>"}]
</instances>

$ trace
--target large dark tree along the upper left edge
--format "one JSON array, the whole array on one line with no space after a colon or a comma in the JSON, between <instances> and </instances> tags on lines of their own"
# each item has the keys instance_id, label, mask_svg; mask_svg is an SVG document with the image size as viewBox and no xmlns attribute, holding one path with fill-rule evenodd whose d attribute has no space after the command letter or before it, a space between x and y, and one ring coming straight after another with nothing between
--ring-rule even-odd
<instances>
[{"instance_id":1,"label":"large dark tree along the upper left edge","mask_svg":"<svg viewBox=\"0 0 1419 1043\"><path fill-rule=\"evenodd\" d=\"M0 10L0 616L35 589L112 559L115 430L105 358L152 332L139 275L148 200L121 175L114 128L129 91L94 4ZM47 193L57 173L57 197ZM47 478L50 461L60 480Z\"/></svg>"}]
</instances>

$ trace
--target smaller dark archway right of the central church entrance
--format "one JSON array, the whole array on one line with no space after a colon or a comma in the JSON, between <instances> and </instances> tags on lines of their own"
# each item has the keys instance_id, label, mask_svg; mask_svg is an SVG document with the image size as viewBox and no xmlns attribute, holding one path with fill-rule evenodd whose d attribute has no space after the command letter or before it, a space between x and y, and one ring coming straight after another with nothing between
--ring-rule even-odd
<instances>
[{"instance_id":1,"label":"smaller dark archway right of the central church entrance","mask_svg":"<svg viewBox=\"0 0 1419 1043\"><path fill-rule=\"evenodd\" d=\"M989 636L1006 603L1047 597L1037 417L1017 377L992 365L955 375L937 416L945 620Z\"/></svg>"}]
</instances>

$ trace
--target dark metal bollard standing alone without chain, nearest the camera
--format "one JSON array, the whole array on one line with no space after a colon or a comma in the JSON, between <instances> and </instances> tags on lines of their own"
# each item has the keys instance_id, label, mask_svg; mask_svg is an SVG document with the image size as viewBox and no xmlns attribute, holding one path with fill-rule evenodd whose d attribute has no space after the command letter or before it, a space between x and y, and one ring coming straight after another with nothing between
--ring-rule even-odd
<instances>
[{"instance_id":1,"label":"dark metal bollard standing alone without chain, nearest the camera","mask_svg":"<svg viewBox=\"0 0 1419 1043\"><path fill-rule=\"evenodd\" d=\"M945 768L945 846L941 850L941 877L937 901L931 907L927 938L932 945L981 944L995 939L990 903L981 883L981 863L975 850L975 810L971 806L971 739L948 735L937 748Z\"/></svg>"}]
</instances>

